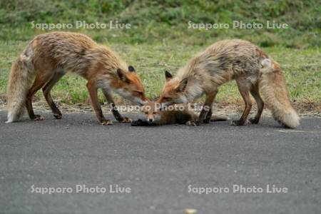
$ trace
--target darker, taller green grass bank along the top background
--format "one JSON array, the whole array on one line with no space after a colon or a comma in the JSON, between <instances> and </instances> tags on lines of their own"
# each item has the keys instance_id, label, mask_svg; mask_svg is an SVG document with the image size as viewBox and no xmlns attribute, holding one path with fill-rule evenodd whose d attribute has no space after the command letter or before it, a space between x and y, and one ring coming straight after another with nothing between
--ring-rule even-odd
<instances>
[{"instance_id":1,"label":"darker, taller green grass bank along the top background","mask_svg":"<svg viewBox=\"0 0 321 214\"><path fill-rule=\"evenodd\" d=\"M118 20L131 29L69 29L83 31L110 44L168 44L203 46L213 39L239 38L259 46L307 48L321 46L320 1L302 0L0 0L0 40L26 41L46 32L35 23L108 23ZM233 21L285 23L289 29L188 29L193 23L232 24Z\"/></svg>"}]
</instances>

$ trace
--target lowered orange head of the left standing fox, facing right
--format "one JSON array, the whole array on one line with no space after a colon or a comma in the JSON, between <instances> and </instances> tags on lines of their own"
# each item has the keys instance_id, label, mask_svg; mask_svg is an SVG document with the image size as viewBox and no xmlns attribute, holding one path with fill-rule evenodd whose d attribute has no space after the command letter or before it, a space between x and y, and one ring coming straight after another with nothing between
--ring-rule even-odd
<instances>
[{"instance_id":1,"label":"lowered orange head of the left standing fox, facing right","mask_svg":"<svg viewBox=\"0 0 321 214\"><path fill-rule=\"evenodd\" d=\"M116 93L141 106L148 101L141 78L133 66L128 66L128 72L118 68L116 76L113 84Z\"/></svg>"}]
</instances>

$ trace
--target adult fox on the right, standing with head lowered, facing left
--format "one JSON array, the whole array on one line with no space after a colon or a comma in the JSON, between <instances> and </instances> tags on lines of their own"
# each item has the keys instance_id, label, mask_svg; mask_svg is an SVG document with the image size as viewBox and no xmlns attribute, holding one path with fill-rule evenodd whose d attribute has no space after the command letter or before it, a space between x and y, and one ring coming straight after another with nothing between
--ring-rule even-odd
<instances>
[{"instance_id":1,"label":"adult fox on the right, standing with head lowered, facing left","mask_svg":"<svg viewBox=\"0 0 321 214\"><path fill-rule=\"evenodd\" d=\"M258 106L258 112L250 122L259 122L264 106L260 88L275 120L286 127L295 128L300 124L299 116L290 104L285 78L280 66L272 59L273 66L263 68L261 63L266 58L269 56L249 41L218 41L180 68L175 77L165 71L166 83L158 102L164 106L187 103L205 93L204 107L208 108L203 108L198 121L208 123L218 87L234 79L245 102L245 109L240 120L233 121L233 125L242 126L247 121L252 107L249 93Z\"/></svg>"}]
</instances>

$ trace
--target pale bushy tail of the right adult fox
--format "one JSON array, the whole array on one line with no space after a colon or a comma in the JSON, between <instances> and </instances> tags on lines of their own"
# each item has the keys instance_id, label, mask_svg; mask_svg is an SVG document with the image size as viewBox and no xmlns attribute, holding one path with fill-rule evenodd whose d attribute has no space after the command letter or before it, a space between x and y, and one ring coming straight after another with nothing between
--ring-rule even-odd
<instances>
[{"instance_id":1,"label":"pale bushy tail of the right adult fox","mask_svg":"<svg viewBox=\"0 0 321 214\"><path fill-rule=\"evenodd\" d=\"M261 63L263 68L260 69L260 91L267 108L272 111L273 118L283 126L299 126L300 118L291 106L279 64L269 58L265 58Z\"/></svg>"}]
</instances>

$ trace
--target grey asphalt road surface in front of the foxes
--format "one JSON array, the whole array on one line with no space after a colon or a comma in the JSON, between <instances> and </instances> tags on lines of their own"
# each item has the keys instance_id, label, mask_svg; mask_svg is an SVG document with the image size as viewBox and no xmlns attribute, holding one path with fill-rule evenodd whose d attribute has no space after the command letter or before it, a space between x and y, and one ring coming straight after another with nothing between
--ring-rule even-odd
<instances>
[{"instance_id":1,"label":"grey asphalt road surface in front of the foxes","mask_svg":"<svg viewBox=\"0 0 321 214\"><path fill-rule=\"evenodd\" d=\"M321 118L293 131L268 117L131 127L44 116L5 124L0 112L0 213L321 213Z\"/></svg>"}]
</instances>

